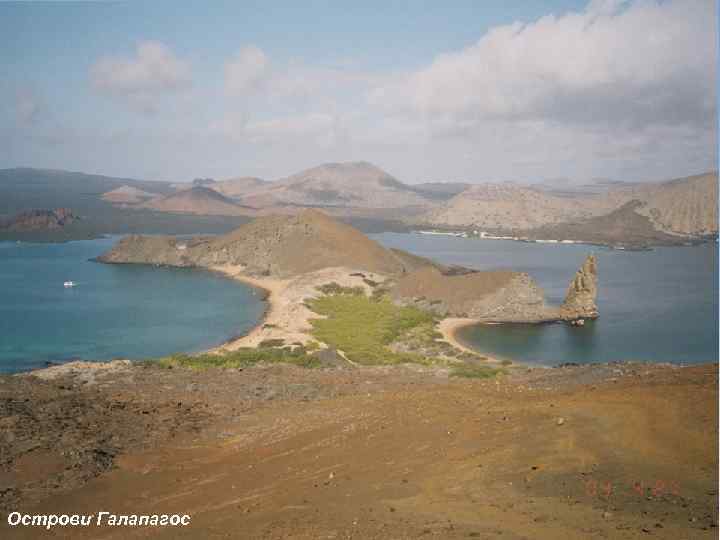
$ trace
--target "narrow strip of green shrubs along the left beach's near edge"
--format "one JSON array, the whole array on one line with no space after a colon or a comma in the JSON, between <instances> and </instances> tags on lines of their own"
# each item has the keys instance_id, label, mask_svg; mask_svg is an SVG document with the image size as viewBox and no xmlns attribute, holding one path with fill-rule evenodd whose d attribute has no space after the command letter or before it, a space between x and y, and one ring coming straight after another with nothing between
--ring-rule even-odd
<instances>
[{"instance_id":1,"label":"narrow strip of green shrubs along the left beach's near edge","mask_svg":"<svg viewBox=\"0 0 720 540\"><path fill-rule=\"evenodd\" d=\"M273 348L242 348L223 354L175 354L159 360L161 367L185 367L191 369L208 368L245 368L256 364L293 364L295 366L314 368L320 366L320 360L307 354L303 347L291 349Z\"/></svg>"}]
</instances>

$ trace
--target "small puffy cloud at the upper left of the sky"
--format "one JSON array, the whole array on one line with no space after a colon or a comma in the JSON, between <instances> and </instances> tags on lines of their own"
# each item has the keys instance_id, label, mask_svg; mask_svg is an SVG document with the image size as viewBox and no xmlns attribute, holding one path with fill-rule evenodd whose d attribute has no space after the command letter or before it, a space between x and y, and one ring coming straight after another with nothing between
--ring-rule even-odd
<instances>
[{"instance_id":1,"label":"small puffy cloud at the upper left of the sky","mask_svg":"<svg viewBox=\"0 0 720 540\"><path fill-rule=\"evenodd\" d=\"M131 58L106 56L91 68L93 87L150 112L156 100L191 84L190 66L159 41L138 43Z\"/></svg>"}]
</instances>

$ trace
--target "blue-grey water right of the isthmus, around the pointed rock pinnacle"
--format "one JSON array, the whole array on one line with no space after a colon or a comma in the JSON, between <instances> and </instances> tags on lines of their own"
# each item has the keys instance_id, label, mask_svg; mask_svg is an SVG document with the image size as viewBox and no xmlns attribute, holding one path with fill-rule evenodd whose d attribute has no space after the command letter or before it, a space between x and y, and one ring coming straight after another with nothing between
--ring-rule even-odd
<instances>
[{"instance_id":1,"label":"blue-grey water right of the isthmus, around the pointed rock pinnacle","mask_svg":"<svg viewBox=\"0 0 720 540\"><path fill-rule=\"evenodd\" d=\"M546 298L558 304L585 256L595 251L599 266L597 321L582 328L504 324L461 329L460 341L476 350L542 365L718 361L716 244L630 252L391 233L375 238L445 263L526 271L544 289Z\"/></svg>"}]
</instances>

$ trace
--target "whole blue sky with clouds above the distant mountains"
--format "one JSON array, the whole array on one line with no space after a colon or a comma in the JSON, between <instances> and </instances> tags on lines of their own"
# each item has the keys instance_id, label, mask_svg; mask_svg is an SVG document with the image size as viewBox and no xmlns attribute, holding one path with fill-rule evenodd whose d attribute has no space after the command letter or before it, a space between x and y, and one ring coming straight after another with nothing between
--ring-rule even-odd
<instances>
[{"instance_id":1,"label":"whole blue sky with clouds above the distant mountains","mask_svg":"<svg viewBox=\"0 0 720 540\"><path fill-rule=\"evenodd\" d=\"M408 183L717 169L715 0L0 3L0 168Z\"/></svg>"}]
</instances>

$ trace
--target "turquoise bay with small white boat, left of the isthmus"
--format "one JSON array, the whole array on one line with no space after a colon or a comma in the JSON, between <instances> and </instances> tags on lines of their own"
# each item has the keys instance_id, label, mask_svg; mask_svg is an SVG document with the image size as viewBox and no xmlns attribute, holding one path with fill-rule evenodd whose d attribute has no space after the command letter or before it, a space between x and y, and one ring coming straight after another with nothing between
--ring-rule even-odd
<instances>
[{"instance_id":1,"label":"turquoise bay with small white boat, left of the isthmus","mask_svg":"<svg viewBox=\"0 0 720 540\"><path fill-rule=\"evenodd\" d=\"M211 272L88 260L115 241L0 242L0 372L200 351L262 316L257 291Z\"/></svg>"}]
</instances>

